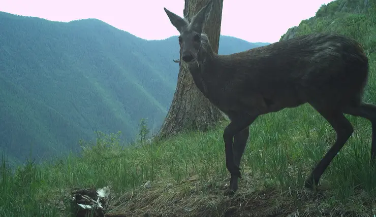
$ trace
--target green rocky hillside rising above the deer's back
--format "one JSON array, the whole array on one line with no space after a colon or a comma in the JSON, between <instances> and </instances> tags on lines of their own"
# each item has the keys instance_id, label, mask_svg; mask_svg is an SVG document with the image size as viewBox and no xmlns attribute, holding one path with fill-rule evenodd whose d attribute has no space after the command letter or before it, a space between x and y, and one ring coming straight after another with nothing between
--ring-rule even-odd
<instances>
[{"instance_id":1,"label":"green rocky hillside rising above the deer's back","mask_svg":"<svg viewBox=\"0 0 376 217\"><path fill-rule=\"evenodd\" d=\"M315 17L303 20L295 36L313 32L336 32L359 41L368 53L373 53L376 51L375 24L374 1L337 0L323 5Z\"/></svg>"}]
</instances>

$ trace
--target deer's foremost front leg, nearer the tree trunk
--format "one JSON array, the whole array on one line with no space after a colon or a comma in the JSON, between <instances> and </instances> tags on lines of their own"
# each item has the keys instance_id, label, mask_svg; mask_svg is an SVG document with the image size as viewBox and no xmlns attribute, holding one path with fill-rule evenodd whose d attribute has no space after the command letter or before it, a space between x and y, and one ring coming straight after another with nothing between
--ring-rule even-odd
<instances>
[{"instance_id":1,"label":"deer's foremost front leg, nearer the tree trunk","mask_svg":"<svg viewBox=\"0 0 376 217\"><path fill-rule=\"evenodd\" d=\"M232 179L234 179L235 176L241 178L240 168L234 161L233 138L237 133L252 124L256 118L257 116L250 115L237 115L235 117L230 117L231 123L227 125L223 132L223 138L225 141L226 167L231 173Z\"/></svg>"}]
</instances>

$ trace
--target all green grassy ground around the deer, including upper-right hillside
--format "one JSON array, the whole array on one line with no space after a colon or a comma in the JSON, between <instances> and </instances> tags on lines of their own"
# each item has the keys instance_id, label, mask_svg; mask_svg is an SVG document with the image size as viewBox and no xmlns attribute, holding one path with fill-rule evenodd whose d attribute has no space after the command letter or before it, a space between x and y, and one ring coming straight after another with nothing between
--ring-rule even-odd
<instances>
[{"instance_id":1,"label":"all green grassy ground around the deer, including upper-right hillside","mask_svg":"<svg viewBox=\"0 0 376 217\"><path fill-rule=\"evenodd\" d=\"M370 62L364 101L376 103L376 8L362 10L361 1L360 6L346 1L347 10L336 11L344 2L323 6L296 31L336 31L357 38ZM304 105L264 115L251 125L241 163L243 179L234 197L222 194L229 181L222 138L227 123L207 133L185 132L148 142L142 122L139 141L126 149L120 134L100 133L95 143L81 143L81 157L53 164L29 162L14 172L3 161L0 216L69 216L71 189L90 186L111 187L108 216L374 216L370 123L347 117L355 131L327 168L319 191L306 190L303 182L335 133ZM151 188L142 187L147 180Z\"/></svg>"}]
</instances>

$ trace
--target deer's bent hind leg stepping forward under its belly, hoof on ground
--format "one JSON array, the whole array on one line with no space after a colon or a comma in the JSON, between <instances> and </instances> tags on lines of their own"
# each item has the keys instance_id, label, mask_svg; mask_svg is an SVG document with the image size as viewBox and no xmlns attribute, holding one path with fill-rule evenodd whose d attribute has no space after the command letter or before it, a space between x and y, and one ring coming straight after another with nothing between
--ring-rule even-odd
<instances>
[{"instance_id":1,"label":"deer's bent hind leg stepping forward under its belly, hoof on ground","mask_svg":"<svg viewBox=\"0 0 376 217\"><path fill-rule=\"evenodd\" d=\"M311 104L311 103L310 103ZM312 105L312 104L311 104ZM305 187L312 188L318 185L322 174L325 169L329 166L330 162L337 155L339 150L342 149L344 143L349 139L354 131L353 126L350 121L344 117L343 113L339 109L334 109L331 107L321 107L317 105L312 105L320 114L323 116L329 124L334 128L337 138L333 146L317 164L314 170L310 173L309 177L305 180ZM330 105L328 105L330 106Z\"/></svg>"}]
</instances>

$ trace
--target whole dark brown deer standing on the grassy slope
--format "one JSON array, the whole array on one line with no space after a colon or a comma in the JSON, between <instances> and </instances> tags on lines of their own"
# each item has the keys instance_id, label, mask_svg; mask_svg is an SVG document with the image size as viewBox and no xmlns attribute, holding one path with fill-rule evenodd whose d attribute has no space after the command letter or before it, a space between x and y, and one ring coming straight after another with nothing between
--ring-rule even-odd
<instances>
[{"instance_id":1,"label":"whole dark brown deer standing on the grassy slope","mask_svg":"<svg viewBox=\"0 0 376 217\"><path fill-rule=\"evenodd\" d=\"M203 31L210 0L191 20L164 8L178 30L180 63L202 94L229 119L223 131L230 185L238 190L240 161L249 126L261 115L308 103L334 129L336 140L311 170L304 187L314 189L331 161L354 132L344 116L371 122L371 162L376 153L376 106L362 101L368 57L356 40L336 33L311 33L230 55L213 52Z\"/></svg>"}]
</instances>

